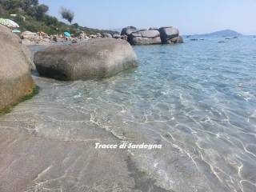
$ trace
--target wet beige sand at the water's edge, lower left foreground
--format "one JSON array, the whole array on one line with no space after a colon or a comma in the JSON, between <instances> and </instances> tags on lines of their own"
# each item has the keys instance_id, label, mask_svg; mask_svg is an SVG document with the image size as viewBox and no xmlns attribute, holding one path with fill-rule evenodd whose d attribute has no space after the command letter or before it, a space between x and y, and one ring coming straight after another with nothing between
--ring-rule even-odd
<instances>
[{"instance_id":1,"label":"wet beige sand at the water's edge, lower left foreground","mask_svg":"<svg viewBox=\"0 0 256 192\"><path fill-rule=\"evenodd\" d=\"M39 79L42 79L42 82ZM61 103L59 103L61 104L60 106L59 104L54 104L54 102L53 105L44 104L45 99L47 99L46 95L50 94L50 92L48 92L50 91L49 89L51 89L50 85L51 83L56 82L55 80L52 81L46 78L34 78L34 81L36 84L38 84L38 86L42 87L40 93L38 95L35 95L33 99L26 100L25 102L20 103L18 106L15 106L14 110L12 110L10 114L0 116L0 132L2 135L0 139L0 148L2 148L2 153L6 154L6 158L2 157L2 160L5 159L4 162L6 162L6 166L2 166L1 168L5 170L7 167L9 167L9 171L11 170L11 172L3 171L0 175L2 178L2 183L9 183L10 181L13 181L12 186L15 190L11 190L10 188L8 188L8 185L1 185L2 189L5 189L6 191L42 190L48 185L47 183L50 182L51 179L53 179L52 177L56 177L58 175L58 178L61 179L62 173L64 171L72 170L78 171L78 173L80 172L79 174L82 174L83 177L85 177L83 179L86 179L87 182L84 181L83 183L87 183L87 187L85 188L86 190L93 190L95 187L90 186L89 181L93 181L93 183L97 183L98 181L101 187L105 186L106 189L109 190L114 190L114 188L112 187L118 185L122 188L122 190L130 192L134 190L144 191L152 187L158 191L167 191L163 190L158 186L155 186L155 182L150 180L150 178L147 178L145 173L143 174L141 171L139 171L138 168L136 168L134 162L131 160L130 154L127 153L126 150L95 149L94 143L97 141L118 143L121 142L121 140L111 134L110 131L97 127L97 125L95 125L94 123L92 124L95 125L94 128L91 126L82 126L81 124L79 129L82 130L79 131L82 131L81 133L83 134L82 137L79 136L78 138L72 136L72 134L68 136L68 130L66 130L68 131L66 132L66 136L63 135L64 137L58 138L58 132L54 130L57 127L50 128L50 126L47 126L48 123L46 123L46 127L43 128L46 130L38 130L39 125L44 125L41 123L38 124L38 120L40 118L37 118L37 116L40 115L40 113L46 113L46 111L49 111L50 108L52 108L55 110L55 112L51 113L51 115L54 115L51 118L54 118L56 120L58 118L62 119L61 116L58 117L57 111L59 113L62 113L62 116L68 116L72 113L70 113L70 110L67 110L66 107L68 106L62 105ZM48 84L49 81L50 83ZM48 85L46 86L46 84ZM48 93L46 93L46 91ZM42 100L41 97L44 97L44 99ZM42 110L40 110L41 107ZM66 110L63 110L62 107L65 107ZM46 113L46 115L48 116L50 114ZM84 114L81 115L83 116ZM11 123L10 127L10 122L12 122L12 119L14 119L14 117L16 121ZM74 122L74 126L70 125L69 127L74 127L74 130L78 129L78 124L81 123L79 122L81 120L78 120L78 122ZM63 123L66 124L68 122L69 120L66 119ZM51 131L48 130L49 128ZM56 136L48 137L48 131L50 131L49 133L56 132ZM7 147L5 143L10 144L8 144ZM78 151L80 152L77 153ZM17 152L18 154L16 154ZM101 156L102 158L99 158ZM72 160L70 162L70 160L68 160L69 158L72 158L75 161ZM79 159L84 160L79 161ZM15 162L12 163L12 166L7 166L10 162L14 160ZM59 167L59 165L56 164L56 161L60 161L58 162L58 164L63 163L63 167ZM78 164L79 167L74 166L73 163ZM86 172L83 172L84 168L87 167L88 163L90 164L90 167L94 167L94 169L86 169ZM17 168L17 166L21 165L22 170ZM58 166L58 170L55 170L54 166ZM72 166L74 166L74 168L72 168ZM106 174L103 174L102 170L105 169L107 169L108 171L106 172ZM22 178L16 178L15 176L19 173L19 171L23 171ZM92 173L88 174L88 171L92 171ZM30 178L33 177L33 175L37 175L37 177ZM118 175L118 177L114 175ZM109 182L100 182L102 181L102 179L108 180ZM48 182L46 182L47 180ZM38 185L38 183L41 182L45 184ZM82 184L82 180L80 182ZM50 186L47 186L47 188L48 187ZM56 186L54 185L54 188L52 190L56 189L55 187Z\"/></svg>"}]
</instances>

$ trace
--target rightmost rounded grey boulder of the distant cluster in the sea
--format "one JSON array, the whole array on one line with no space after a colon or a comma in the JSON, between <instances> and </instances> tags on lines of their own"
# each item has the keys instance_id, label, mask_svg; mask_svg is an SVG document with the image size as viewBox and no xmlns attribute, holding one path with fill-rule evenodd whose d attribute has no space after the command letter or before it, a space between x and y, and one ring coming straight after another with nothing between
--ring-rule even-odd
<instances>
[{"instance_id":1,"label":"rightmost rounded grey boulder of the distant cluster in the sea","mask_svg":"<svg viewBox=\"0 0 256 192\"><path fill-rule=\"evenodd\" d=\"M159 28L160 37L162 39L162 43L169 43L172 38L176 38L179 36L179 31L177 28L168 26Z\"/></svg>"}]
</instances>

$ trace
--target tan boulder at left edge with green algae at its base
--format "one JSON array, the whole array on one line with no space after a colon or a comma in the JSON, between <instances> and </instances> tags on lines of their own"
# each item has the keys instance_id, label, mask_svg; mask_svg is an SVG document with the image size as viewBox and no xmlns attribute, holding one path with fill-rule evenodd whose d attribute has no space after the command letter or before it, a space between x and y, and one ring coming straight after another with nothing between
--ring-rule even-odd
<instances>
[{"instance_id":1,"label":"tan boulder at left edge with green algae at its base","mask_svg":"<svg viewBox=\"0 0 256 192\"><path fill-rule=\"evenodd\" d=\"M22 49L20 38L0 25L0 110L33 92L30 63Z\"/></svg>"}]
</instances>

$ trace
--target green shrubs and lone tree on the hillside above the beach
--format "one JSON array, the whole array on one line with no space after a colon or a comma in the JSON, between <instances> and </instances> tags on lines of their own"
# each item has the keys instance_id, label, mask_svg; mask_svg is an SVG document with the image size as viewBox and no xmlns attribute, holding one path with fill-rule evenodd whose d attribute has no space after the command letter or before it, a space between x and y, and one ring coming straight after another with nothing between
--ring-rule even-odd
<instances>
[{"instance_id":1,"label":"green shrubs and lone tree on the hillside above the beach","mask_svg":"<svg viewBox=\"0 0 256 192\"><path fill-rule=\"evenodd\" d=\"M62 18L70 22L58 21L58 18L47 14L49 7L45 4L39 4L38 0L0 0L0 18L10 18L17 22L20 30L30 30L32 32L43 31L47 34L61 34L64 31L70 31L71 34L78 34L79 31L85 31L86 34L109 33L116 34L117 31L91 29L79 26L78 23L71 25L74 19L74 13L71 10L62 8ZM11 16L15 14L16 16Z\"/></svg>"}]
</instances>

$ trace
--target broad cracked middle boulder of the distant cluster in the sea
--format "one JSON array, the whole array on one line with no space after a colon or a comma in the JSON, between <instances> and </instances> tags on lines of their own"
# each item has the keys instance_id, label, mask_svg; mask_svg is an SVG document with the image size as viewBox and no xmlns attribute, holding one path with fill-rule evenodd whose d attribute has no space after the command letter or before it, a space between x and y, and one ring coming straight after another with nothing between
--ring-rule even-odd
<instances>
[{"instance_id":1,"label":"broad cracked middle boulder of the distant cluster in the sea","mask_svg":"<svg viewBox=\"0 0 256 192\"><path fill-rule=\"evenodd\" d=\"M158 30L139 30L128 36L131 45L154 45L161 44Z\"/></svg>"}]
</instances>

